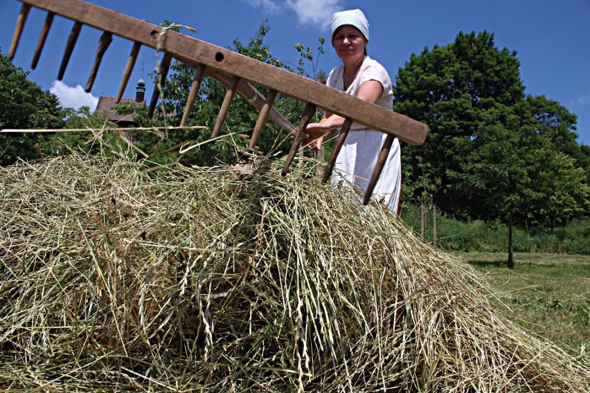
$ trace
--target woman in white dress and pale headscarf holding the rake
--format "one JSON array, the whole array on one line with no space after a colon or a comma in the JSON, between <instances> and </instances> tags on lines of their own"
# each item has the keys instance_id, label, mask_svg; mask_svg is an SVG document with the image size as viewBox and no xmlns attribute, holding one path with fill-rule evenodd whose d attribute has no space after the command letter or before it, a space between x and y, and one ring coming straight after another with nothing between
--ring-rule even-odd
<instances>
[{"instance_id":1,"label":"woman in white dress and pale headscarf holding the rake","mask_svg":"<svg viewBox=\"0 0 590 393\"><path fill-rule=\"evenodd\" d=\"M332 69L326 84L361 100L393 110L391 79L381 64L366 55L368 26L361 10L334 14L330 39L343 64ZM305 143L313 141L319 148L323 136L334 129L340 129L344 120L341 116L324 113L320 122L307 125L306 132L310 138ZM366 190L385 138L386 135L379 131L358 124L352 125L334 165L332 185L348 183ZM397 213L401 182L400 143L396 138L375 185L373 198L382 199L387 208Z\"/></svg>"}]
</instances>

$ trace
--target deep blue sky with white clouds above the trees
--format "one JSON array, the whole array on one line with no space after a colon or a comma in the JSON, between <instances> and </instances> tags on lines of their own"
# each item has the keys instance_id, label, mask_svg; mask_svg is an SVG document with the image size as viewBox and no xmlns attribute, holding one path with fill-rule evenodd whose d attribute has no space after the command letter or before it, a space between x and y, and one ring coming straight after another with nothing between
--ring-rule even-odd
<instances>
[{"instance_id":1,"label":"deep blue sky with white clouds above the trees","mask_svg":"<svg viewBox=\"0 0 590 393\"><path fill-rule=\"evenodd\" d=\"M159 24L168 19L195 28L184 33L215 44L231 46L239 38L244 44L267 18L271 28L266 41L271 54L295 63L294 45L318 46L318 37L330 36L334 11L361 8L370 23L369 55L389 71L395 80L412 53L425 46L445 46L457 33L494 33L499 48L517 51L521 79L526 93L545 95L560 102L578 116L579 143L590 144L590 0L92 0L98 6ZM21 3L0 0L0 48L8 53ZM19 44L15 64L28 70L45 12L30 12ZM30 79L51 89L67 106L96 104L100 95L116 95L129 42L115 38L104 57L91 95L84 95L100 33L82 28L64 80L55 82L72 22L56 18L48 43ZM329 39L328 39L329 41ZM314 54L317 57L317 54ZM125 96L134 97L135 82L153 71L156 53L142 48ZM319 68L329 71L339 59L325 46ZM308 71L311 68L308 67ZM311 72L311 71L310 71ZM147 96L152 86L145 77Z\"/></svg>"}]
</instances>

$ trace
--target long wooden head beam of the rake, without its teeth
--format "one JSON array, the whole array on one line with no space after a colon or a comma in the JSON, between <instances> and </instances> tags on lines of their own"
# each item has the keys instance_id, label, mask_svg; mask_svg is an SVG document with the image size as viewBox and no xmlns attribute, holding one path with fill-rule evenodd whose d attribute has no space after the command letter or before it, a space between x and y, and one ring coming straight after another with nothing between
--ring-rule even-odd
<instances>
[{"instance_id":1,"label":"long wooden head beam of the rake, without its teeth","mask_svg":"<svg viewBox=\"0 0 590 393\"><path fill-rule=\"evenodd\" d=\"M160 26L127 17L77 0L21 0L84 24L109 31L120 37L156 48ZM161 38L162 51L174 54L178 60L198 60L207 68L236 75L247 82L276 90L302 102L310 102L344 118L352 118L370 129L396 136L407 143L420 145L427 134L427 125L389 111L370 102L308 80L281 68L258 62L229 49L220 48L186 35L168 30Z\"/></svg>"}]
</instances>

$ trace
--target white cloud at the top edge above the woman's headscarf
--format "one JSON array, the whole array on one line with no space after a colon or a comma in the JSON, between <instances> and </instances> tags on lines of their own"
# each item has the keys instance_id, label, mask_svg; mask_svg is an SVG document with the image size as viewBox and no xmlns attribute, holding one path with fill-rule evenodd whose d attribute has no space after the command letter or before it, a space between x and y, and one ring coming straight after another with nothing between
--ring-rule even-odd
<instances>
[{"instance_id":1,"label":"white cloud at the top edge above the woman's headscarf","mask_svg":"<svg viewBox=\"0 0 590 393\"><path fill-rule=\"evenodd\" d=\"M334 12L343 9L343 0L243 0L269 12L295 11L300 24L328 28Z\"/></svg>"}]
</instances>

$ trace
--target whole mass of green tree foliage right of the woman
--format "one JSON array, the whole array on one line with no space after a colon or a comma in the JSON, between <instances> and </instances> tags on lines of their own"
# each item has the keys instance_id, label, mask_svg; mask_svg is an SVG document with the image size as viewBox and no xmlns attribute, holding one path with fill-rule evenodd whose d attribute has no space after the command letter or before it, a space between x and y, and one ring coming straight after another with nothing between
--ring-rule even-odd
<instances>
[{"instance_id":1,"label":"whole mass of green tree foliage right of the woman","mask_svg":"<svg viewBox=\"0 0 590 393\"><path fill-rule=\"evenodd\" d=\"M404 147L404 197L429 194L461 219L551 228L587 211L587 149L575 141L575 115L525 97L516 53L499 50L493 34L459 33L424 48L396 82L394 110L430 129L424 145Z\"/></svg>"}]
</instances>

